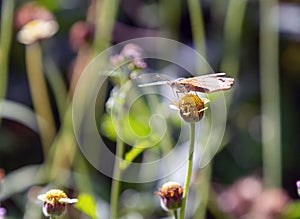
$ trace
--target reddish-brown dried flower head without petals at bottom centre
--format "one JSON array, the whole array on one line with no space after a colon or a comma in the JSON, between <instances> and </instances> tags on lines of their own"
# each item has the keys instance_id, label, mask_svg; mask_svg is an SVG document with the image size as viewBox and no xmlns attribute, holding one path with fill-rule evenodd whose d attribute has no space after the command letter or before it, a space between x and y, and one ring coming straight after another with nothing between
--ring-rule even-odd
<instances>
[{"instance_id":1,"label":"reddish-brown dried flower head without petals at bottom centre","mask_svg":"<svg viewBox=\"0 0 300 219\"><path fill-rule=\"evenodd\" d=\"M164 210L174 210L182 205L183 187L176 182L167 182L159 188L156 195L161 197L161 206Z\"/></svg>"}]
</instances>

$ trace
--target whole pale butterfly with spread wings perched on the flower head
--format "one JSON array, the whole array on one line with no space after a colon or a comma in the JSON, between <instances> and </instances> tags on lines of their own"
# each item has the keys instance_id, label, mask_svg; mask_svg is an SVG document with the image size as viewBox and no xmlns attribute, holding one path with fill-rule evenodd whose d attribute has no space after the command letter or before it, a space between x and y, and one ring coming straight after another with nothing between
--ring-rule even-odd
<instances>
[{"instance_id":1,"label":"whole pale butterfly with spread wings perched on the flower head","mask_svg":"<svg viewBox=\"0 0 300 219\"><path fill-rule=\"evenodd\" d=\"M220 90L228 90L234 83L234 78L224 77L226 73L201 75L191 78L177 78L173 81L156 81L140 84L138 87L168 84L176 93L188 93L190 91L211 93Z\"/></svg>"}]
</instances>

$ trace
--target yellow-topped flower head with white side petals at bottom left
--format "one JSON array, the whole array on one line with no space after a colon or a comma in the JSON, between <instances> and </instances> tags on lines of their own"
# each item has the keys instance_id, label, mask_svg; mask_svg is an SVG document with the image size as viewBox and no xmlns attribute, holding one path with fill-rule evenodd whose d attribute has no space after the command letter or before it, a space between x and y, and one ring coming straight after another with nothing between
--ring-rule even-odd
<instances>
[{"instance_id":1,"label":"yellow-topped flower head with white side petals at bottom left","mask_svg":"<svg viewBox=\"0 0 300 219\"><path fill-rule=\"evenodd\" d=\"M66 193L59 189L51 189L37 198L44 202L43 213L46 217L59 216L65 212L66 204L78 202L77 199L68 198Z\"/></svg>"}]
</instances>

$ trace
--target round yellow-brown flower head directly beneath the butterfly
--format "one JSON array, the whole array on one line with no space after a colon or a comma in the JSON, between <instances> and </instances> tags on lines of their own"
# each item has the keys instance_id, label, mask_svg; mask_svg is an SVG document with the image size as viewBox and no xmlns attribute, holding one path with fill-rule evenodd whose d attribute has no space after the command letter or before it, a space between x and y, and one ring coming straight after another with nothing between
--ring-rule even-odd
<instances>
[{"instance_id":1,"label":"round yellow-brown flower head directly beneath the butterfly","mask_svg":"<svg viewBox=\"0 0 300 219\"><path fill-rule=\"evenodd\" d=\"M180 115L186 122L198 122L202 119L205 107L205 99L201 99L196 94L184 95L178 103Z\"/></svg>"}]
</instances>

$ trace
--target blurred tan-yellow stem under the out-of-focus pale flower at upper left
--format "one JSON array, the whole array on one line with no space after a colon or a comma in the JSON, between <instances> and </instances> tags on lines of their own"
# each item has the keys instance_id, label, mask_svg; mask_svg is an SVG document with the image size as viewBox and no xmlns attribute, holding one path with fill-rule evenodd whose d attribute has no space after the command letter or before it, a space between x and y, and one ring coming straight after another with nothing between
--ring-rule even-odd
<instances>
[{"instance_id":1,"label":"blurred tan-yellow stem under the out-of-focus pale flower at upper left","mask_svg":"<svg viewBox=\"0 0 300 219\"><path fill-rule=\"evenodd\" d=\"M38 115L37 121L44 154L47 154L56 131L46 79L43 74L42 51L38 43L26 46L26 67L33 106Z\"/></svg>"}]
</instances>

